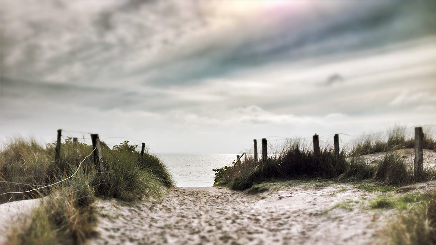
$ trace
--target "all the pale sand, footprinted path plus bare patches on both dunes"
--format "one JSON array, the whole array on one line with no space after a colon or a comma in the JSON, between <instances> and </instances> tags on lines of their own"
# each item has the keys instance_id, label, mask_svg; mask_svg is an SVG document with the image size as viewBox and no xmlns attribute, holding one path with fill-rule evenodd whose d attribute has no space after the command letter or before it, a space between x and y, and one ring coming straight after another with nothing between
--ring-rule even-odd
<instances>
[{"instance_id":1,"label":"all the pale sand, footprinted path plus bare patches on both dunes","mask_svg":"<svg viewBox=\"0 0 436 245\"><path fill-rule=\"evenodd\" d=\"M412 157L412 150L402 150ZM372 162L383 154L366 156ZM373 159L374 158L374 159ZM424 151L435 167L436 153ZM409 161L410 162L410 161ZM413 184L406 193L435 190L436 180ZM256 193L225 187L174 187L163 199L124 202L97 199L97 235L86 245L122 244L307 244L366 245L379 242L395 209L372 209L380 195L357 183L307 180L262 184ZM29 215L39 199L0 205L0 244L8 228Z\"/></svg>"}]
</instances>

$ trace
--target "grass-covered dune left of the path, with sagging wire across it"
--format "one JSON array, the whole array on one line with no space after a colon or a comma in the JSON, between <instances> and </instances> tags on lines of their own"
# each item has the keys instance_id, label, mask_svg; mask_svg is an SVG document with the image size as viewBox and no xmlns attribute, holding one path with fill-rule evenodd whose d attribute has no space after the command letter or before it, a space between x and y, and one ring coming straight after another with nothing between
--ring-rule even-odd
<instances>
[{"instance_id":1,"label":"grass-covered dune left of the path, with sagging wire across it","mask_svg":"<svg viewBox=\"0 0 436 245\"><path fill-rule=\"evenodd\" d=\"M29 219L13 227L8 243L80 244L93 233L96 217L91 204L96 198L159 199L173 186L160 159L148 153L141 157L128 141L102 149L102 161L110 171L96 170L93 150L80 142L73 147L66 138L56 161L54 143L44 146L16 137L3 144L0 203L46 197ZM47 185L52 186L41 188Z\"/></svg>"}]
</instances>

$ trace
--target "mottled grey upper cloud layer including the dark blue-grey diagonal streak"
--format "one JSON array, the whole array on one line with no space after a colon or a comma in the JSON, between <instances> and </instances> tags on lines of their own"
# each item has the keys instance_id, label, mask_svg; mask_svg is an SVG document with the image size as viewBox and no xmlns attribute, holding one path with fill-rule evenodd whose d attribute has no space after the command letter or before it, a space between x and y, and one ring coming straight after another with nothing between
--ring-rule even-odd
<instances>
[{"instance_id":1,"label":"mottled grey upper cloud layer including the dark blue-grey diagonal streak","mask_svg":"<svg viewBox=\"0 0 436 245\"><path fill-rule=\"evenodd\" d=\"M317 15L289 12L265 23L245 16L232 19L231 25L211 14L212 3L17 2L6 0L2 6L3 76L53 82L101 83L137 76L153 86L193 85L270 62L435 34L436 24L433 1L334 8L316 2L305 11Z\"/></svg>"}]
</instances>

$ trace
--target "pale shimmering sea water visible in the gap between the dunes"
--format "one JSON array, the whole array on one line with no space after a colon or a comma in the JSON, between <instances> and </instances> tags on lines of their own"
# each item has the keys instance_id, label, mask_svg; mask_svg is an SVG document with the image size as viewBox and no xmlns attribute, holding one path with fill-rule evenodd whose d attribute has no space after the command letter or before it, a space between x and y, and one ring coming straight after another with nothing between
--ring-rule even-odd
<instances>
[{"instance_id":1,"label":"pale shimmering sea water visible in the gap between the dunes","mask_svg":"<svg viewBox=\"0 0 436 245\"><path fill-rule=\"evenodd\" d=\"M213 186L214 168L231 166L236 154L164 153L158 155L178 187Z\"/></svg>"}]
</instances>

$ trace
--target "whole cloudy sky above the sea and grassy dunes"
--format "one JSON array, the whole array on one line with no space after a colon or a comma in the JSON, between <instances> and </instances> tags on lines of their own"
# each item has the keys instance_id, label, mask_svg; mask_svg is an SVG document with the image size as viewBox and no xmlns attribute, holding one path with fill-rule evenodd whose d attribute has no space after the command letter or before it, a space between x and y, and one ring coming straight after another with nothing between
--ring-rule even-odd
<instances>
[{"instance_id":1,"label":"whole cloudy sky above the sea and grassy dunes","mask_svg":"<svg viewBox=\"0 0 436 245\"><path fill-rule=\"evenodd\" d=\"M0 0L0 139L62 129L239 153L436 124L434 13L427 0Z\"/></svg>"}]
</instances>

